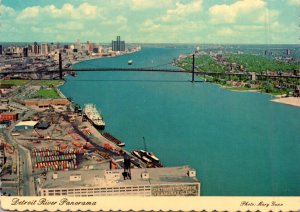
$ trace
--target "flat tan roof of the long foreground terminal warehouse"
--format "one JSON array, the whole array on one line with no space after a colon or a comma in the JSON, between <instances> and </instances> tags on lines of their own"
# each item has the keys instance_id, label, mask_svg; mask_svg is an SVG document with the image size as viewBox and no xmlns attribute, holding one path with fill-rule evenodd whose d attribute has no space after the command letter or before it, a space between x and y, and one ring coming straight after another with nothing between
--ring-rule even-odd
<instances>
[{"instance_id":1,"label":"flat tan roof of the long foreground terminal warehouse","mask_svg":"<svg viewBox=\"0 0 300 212\"><path fill-rule=\"evenodd\" d=\"M149 179L142 179L142 174L149 173ZM123 169L112 170L80 170L80 171L51 171L46 175L46 179L40 184L40 188L72 188L72 187L119 187L134 185L158 185L158 184L181 184L200 183L196 176L188 175L193 171L188 166L163 167L163 168L139 168L131 169L131 180L124 180ZM111 171L113 176L106 173ZM57 179L53 179L56 173ZM119 177L116 177L116 176ZM80 180L70 180L72 176L80 176ZM113 178L113 179L112 179ZM76 178L78 179L78 178Z\"/></svg>"}]
</instances>

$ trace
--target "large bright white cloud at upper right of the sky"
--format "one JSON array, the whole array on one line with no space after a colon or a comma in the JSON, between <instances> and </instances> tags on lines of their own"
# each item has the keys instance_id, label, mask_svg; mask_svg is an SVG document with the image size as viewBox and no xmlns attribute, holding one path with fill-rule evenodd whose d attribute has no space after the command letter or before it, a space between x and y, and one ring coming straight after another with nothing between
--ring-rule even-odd
<instances>
[{"instance_id":1,"label":"large bright white cloud at upper right of the sky","mask_svg":"<svg viewBox=\"0 0 300 212\"><path fill-rule=\"evenodd\" d=\"M247 18L254 21L264 13L266 2L264 0L239 0L233 4L217 4L209 8L213 23L235 23L238 19Z\"/></svg>"}]
</instances>

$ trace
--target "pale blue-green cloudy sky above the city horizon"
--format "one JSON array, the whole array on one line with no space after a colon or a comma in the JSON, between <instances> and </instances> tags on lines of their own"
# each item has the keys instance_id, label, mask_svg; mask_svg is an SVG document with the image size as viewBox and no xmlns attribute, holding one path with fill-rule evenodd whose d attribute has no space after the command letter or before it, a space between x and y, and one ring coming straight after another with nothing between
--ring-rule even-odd
<instances>
[{"instance_id":1,"label":"pale blue-green cloudy sky above the city horizon","mask_svg":"<svg viewBox=\"0 0 300 212\"><path fill-rule=\"evenodd\" d=\"M0 42L298 44L300 0L0 0Z\"/></svg>"}]
</instances>

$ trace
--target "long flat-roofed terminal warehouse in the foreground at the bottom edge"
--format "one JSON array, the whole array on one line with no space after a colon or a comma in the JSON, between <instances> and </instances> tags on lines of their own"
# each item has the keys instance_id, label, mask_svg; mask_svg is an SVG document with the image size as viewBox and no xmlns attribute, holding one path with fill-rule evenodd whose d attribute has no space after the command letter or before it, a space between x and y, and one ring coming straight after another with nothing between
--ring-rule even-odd
<instances>
[{"instance_id":1,"label":"long flat-roofed terminal warehouse in the foreground at the bottom edge","mask_svg":"<svg viewBox=\"0 0 300 212\"><path fill-rule=\"evenodd\" d=\"M183 167L48 172L40 196L199 196L196 171Z\"/></svg>"}]
</instances>

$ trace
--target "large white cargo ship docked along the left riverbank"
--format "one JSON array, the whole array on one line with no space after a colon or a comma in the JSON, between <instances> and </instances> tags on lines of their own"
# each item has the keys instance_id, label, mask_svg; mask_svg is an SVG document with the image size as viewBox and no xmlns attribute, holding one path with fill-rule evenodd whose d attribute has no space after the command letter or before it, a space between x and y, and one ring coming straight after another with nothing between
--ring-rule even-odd
<instances>
[{"instance_id":1,"label":"large white cargo ship docked along the left riverbank","mask_svg":"<svg viewBox=\"0 0 300 212\"><path fill-rule=\"evenodd\" d=\"M105 128L105 122L101 117L100 113L97 111L97 108L93 104L84 105L83 109L84 114L87 119L96 127L97 129L103 130Z\"/></svg>"}]
</instances>

